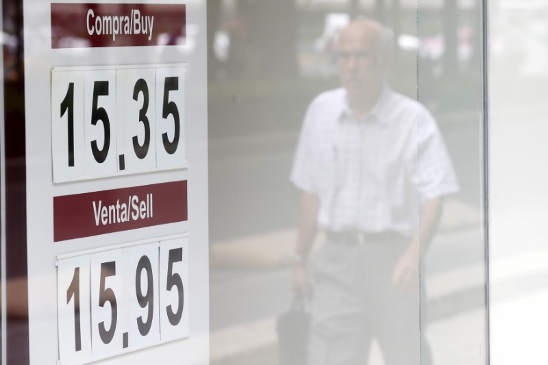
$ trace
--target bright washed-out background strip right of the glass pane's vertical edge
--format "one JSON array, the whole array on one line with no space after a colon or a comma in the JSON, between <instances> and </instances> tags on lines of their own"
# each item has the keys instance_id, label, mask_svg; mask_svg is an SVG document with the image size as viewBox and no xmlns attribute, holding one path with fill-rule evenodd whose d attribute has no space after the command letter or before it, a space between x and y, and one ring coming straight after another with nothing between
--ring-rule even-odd
<instances>
[{"instance_id":1,"label":"bright washed-out background strip right of the glass pane's vertical edge","mask_svg":"<svg viewBox=\"0 0 548 365\"><path fill-rule=\"evenodd\" d=\"M548 3L490 1L492 364L546 364Z\"/></svg>"}]
</instances>

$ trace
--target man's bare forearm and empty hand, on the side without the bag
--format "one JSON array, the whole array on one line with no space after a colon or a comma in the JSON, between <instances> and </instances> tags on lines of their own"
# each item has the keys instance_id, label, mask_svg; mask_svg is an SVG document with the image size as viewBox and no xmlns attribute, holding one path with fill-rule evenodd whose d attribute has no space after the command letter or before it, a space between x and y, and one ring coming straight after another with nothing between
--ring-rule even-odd
<instances>
[{"instance_id":1,"label":"man's bare forearm and empty hand, on the side without the bag","mask_svg":"<svg viewBox=\"0 0 548 365\"><path fill-rule=\"evenodd\" d=\"M443 199L427 200L421 212L419 229L405 253L396 263L393 282L395 286L409 286L418 277L420 255L426 252L440 222Z\"/></svg>"}]
</instances>

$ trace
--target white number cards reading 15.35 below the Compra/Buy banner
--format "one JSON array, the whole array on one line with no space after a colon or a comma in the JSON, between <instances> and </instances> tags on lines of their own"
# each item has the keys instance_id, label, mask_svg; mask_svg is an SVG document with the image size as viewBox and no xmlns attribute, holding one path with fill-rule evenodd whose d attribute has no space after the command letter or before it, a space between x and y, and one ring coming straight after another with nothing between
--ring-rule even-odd
<instances>
[{"instance_id":1,"label":"white number cards reading 15.35 below the Compra/Buy banner","mask_svg":"<svg viewBox=\"0 0 548 365\"><path fill-rule=\"evenodd\" d=\"M185 68L53 71L53 181L186 166Z\"/></svg>"}]
</instances>

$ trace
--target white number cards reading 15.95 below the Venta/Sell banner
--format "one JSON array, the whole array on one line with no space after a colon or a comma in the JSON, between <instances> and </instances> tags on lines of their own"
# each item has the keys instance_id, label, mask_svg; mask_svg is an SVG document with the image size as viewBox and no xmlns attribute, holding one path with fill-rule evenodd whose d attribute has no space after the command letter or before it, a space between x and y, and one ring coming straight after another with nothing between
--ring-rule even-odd
<instances>
[{"instance_id":1,"label":"white number cards reading 15.95 below the Venta/Sell banner","mask_svg":"<svg viewBox=\"0 0 548 365\"><path fill-rule=\"evenodd\" d=\"M60 364L188 337L188 237L58 260Z\"/></svg>"}]
</instances>

